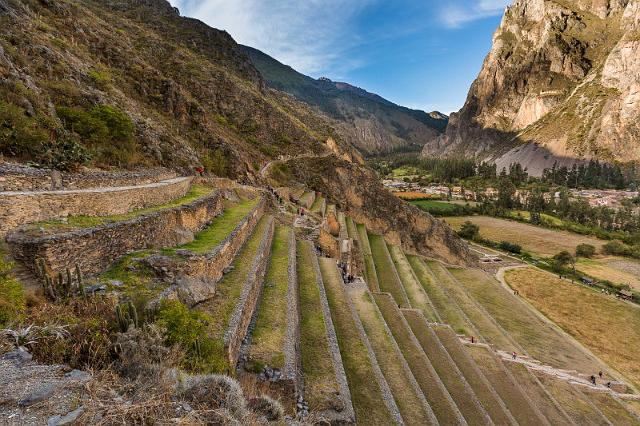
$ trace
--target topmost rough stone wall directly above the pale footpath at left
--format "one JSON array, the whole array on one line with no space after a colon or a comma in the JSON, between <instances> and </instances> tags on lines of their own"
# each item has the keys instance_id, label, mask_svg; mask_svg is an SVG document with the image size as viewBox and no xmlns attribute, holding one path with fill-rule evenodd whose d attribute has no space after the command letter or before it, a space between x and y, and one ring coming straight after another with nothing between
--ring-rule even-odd
<instances>
[{"instance_id":1,"label":"topmost rough stone wall directly above the pale footpath at left","mask_svg":"<svg viewBox=\"0 0 640 426\"><path fill-rule=\"evenodd\" d=\"M51 191L108 186L145 185L173 179L177 174L164 168L107 172L88 170L80 173L36 169L16 163L0 163L0 191Z\"/></svg>"}]
</instances>

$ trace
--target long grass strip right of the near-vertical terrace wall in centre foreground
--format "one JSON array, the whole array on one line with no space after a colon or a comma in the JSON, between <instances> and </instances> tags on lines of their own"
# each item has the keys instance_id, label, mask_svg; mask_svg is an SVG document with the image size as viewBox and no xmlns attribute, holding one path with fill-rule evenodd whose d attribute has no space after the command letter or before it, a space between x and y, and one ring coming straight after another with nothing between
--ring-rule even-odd
<instances>
[{"instance_id":1,"label":"long grass strip right of the near-vertical terrace wall in centre foreground","mask_svg":"<svg viewBox=\"0 0 640 426\"><path fill-rule=\"evenodd\" d=\"M297 243L298 297L300 302L300 352L306 398L311 410L331 408L339 391L327 342L327 329L320 304L320 290L313 266L312 247Z\"/></svg>"}]
</instances>

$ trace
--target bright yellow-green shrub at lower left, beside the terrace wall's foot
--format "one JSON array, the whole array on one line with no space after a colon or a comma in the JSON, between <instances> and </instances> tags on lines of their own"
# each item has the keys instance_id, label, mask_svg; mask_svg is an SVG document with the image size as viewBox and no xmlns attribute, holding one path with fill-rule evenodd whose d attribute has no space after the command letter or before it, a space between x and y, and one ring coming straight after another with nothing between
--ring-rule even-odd
<instances>
[{"instance_id":1,"label":"bright yellow-green shrub at lower left, beside the terrace wall's foot","mask_svg":"<svg viewBox=\"0 0 640 426\"><path fill-rule=\"evenodd\" d=\"M158 324L166 330L168 345L181 347L186 355L183 365L194 371L224 372L228 361L224 342L207 335L209 316L189 309L175 300L165 300L160 305Z\"/></svg>"}]
</instances>

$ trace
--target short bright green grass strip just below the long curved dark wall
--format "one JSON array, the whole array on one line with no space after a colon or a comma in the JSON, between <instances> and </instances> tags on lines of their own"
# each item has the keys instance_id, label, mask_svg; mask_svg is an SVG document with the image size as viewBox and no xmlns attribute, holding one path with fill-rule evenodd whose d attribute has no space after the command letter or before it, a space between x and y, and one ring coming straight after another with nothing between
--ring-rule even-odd
<instances>
[{"instance_id":1,"label":"short bright green grass strip just below the long curved dark wall","mask_svg":"<svg viewBox=\"0 0 640 426\"><path fill-rule=\"evenodd\" d=\"M209 226L199 232L192 242L171 249L171 251L183 249L190 250L196 254L210 252L231 234L231 231L253 210L258 202L259 199L255 198L242 201L239 204L229 205L220 216L213 219Z\"/></svg>"}]
</instances>

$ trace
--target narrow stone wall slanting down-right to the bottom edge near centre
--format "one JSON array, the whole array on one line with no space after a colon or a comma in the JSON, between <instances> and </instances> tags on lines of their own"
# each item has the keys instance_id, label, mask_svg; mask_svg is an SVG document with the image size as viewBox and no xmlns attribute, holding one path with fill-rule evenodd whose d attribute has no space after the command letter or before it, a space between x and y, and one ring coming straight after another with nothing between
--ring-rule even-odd
<instances>
[{"instance_id":1,"label":"narrow stone wall slanting down-right to the bottom edge near centre","mask_svg":"<svg viewBox=\"0 0 640 426\"><path fill-rule=\"evenodd\" d=\"M311 242L309 242L311 244ZM313 250L313 249L312 249ZM313 266L316 273L316 281L318 289L320 291L320 304L322 305L322 314L324 316L324 324L327 329L327 341L329 343L329 351L331 352L331 360L333 361L333 369L336 374L336 382L340 388L337 397L342 401L344 410L342 412L323 412L319 413L322 417L327 417L331 423L338 424L352 424L355 423L355 411L353 409L353 403L351 402L351 391L349 390L349 384L347 382L347 374L344 371L344 365L342 364L342 355L340 354L340 346L338 345L338 337L336 336L336 330L333 326L333 320L331 319L331 309L329 308L329 301L327 300L327 292L324 288L324 281L322 280L322 272L320 271L320 265L318 258L313 256Z\"/></svg>"}]
</instances>

